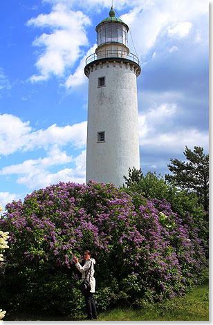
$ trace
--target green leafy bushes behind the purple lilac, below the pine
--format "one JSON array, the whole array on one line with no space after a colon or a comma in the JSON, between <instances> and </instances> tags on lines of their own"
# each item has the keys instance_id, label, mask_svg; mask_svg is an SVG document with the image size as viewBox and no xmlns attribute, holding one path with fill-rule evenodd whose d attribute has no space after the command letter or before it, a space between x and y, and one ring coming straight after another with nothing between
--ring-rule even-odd
<instances>
[{"instance_id":1,"label":"green leafy bushes behind the purple lilac, below the pine","mask_svg":"<svg viewBox=\"0 0 213 325\"><path fill-rule=\"evenodd\" d=\"M138 175L138 180L136 180ZM205 245L205 254L208 256L208 213L203 211L203 204L200 203L196 192L187 192L174 184L169 184L167 180L156 171L149 171L146 175L134 169L129 169L129 178L125 177L127 187L123 189L131 196L133 194L142 194L145 198L160 201L166 200L170 203L172 211L178 214L183 224L192 229L192 238L194 229L198 230L198 237L202 239ZM137 206L136 199L133 200ZM193 222L191 220L193 219Z\"/></svg>"}]
</instances>

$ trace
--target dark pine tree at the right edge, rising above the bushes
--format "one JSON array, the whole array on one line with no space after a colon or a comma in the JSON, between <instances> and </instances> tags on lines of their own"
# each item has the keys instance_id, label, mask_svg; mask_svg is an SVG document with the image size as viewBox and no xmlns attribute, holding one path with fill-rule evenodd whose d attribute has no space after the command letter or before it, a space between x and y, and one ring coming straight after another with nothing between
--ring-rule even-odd
<instances>
[{"instance_id":1,"label":"dark pine tree at the right edge, rising above the bushes","mask_svg":"<svg viewBox=\"0 0 213 325\"><path fill-rule=\"evenodd\" d=\"M194 151L185 147L183 152L187 161L170 159L169 171L173 175L165 175L165 179L187 192L195 192L205 210L209 207L209 155L203 154L202 147L194 147Z\"/></svg>"}]
</instances>

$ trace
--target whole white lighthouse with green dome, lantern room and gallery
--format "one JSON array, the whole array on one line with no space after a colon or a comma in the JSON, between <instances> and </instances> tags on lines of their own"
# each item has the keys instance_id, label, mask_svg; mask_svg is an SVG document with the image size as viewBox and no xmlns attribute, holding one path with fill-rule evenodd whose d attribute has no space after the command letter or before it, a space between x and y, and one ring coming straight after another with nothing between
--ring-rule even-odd
<instances>
[{"instance_id":1,"label":"whole white lighthouse with green dome, lantern room and gallery","mask_svg":"<svg viewBox=\"0 0 213 325\"><path fill-rule=\"evenodd\" d=\"M86 59L89 78L86 143L86 183L124 183L129 167L140 169L138 100L136 77L138 57L129 53L129 27L109 17L96 27L98 48Z\"/></svg>"}]
</instances>

